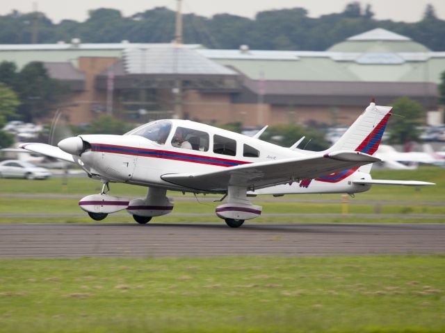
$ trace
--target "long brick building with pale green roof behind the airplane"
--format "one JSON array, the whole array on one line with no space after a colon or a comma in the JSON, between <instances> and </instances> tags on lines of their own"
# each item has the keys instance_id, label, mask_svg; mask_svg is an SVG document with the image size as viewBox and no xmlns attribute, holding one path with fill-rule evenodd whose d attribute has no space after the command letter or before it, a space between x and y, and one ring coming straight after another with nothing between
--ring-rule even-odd
<instances>
[{"instance_id":1,"label":"long brick building with pale green roof behind the airplane","mask_svg":"<svg viewBox=\"0 0 445 333\"><path fill-rule=\"evenodd\" d=\"M72 89L72 123L97 114L143 122L180 117L244 126L284 122L350 124L375 97L401 96L436 111L445 52L381 28L326 51L204 49L200 45L0 45L0 62L42 61Z\"/></svg>"}]
</instances>

